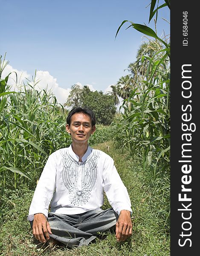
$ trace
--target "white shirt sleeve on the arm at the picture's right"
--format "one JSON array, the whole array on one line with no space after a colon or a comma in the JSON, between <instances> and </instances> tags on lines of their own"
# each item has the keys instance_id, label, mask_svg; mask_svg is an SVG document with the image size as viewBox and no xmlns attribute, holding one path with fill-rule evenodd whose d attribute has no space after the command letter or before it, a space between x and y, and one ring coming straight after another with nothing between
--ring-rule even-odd
<instances>
[{"instance_id":1,"label":"white shirt sleeve on the arm at the picture's right","mask_svg":"<svg viewBox=\"0 0 200 256\"><path fill-rule=\"evenodd\" d=\"M104 161L103 188L109 203L118 215L123 209L132 212L128 191L110 156Z\"/></svg>"}]
</instances>

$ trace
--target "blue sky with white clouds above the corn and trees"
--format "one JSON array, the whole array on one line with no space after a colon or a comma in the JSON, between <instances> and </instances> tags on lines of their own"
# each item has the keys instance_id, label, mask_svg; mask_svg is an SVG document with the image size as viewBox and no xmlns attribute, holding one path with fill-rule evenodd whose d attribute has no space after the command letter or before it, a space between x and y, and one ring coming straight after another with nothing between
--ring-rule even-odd
<instances>
[{"instance_id":1,"label":"blue sky with white clouds above the corn and trees","mask_svg":"<svg viewBox=\"0 0 200 256\"><path fill-rule=\"evenodd\" d=\"M128 23L122 26L115 40L116 31L123 20L145 23L154 29L154 20L148 24L149 3L146 0L0 0L0 55L7 52L9 65L29 78L35 70L40 71L39 78L44 83L55 83L57 89L69 92L73 84L81 83L105 91L128 73L124 70L135 60L145 40L135 29L125 30ZM163 30L170 33L170 25L162 17L170 21L167 7L158 16L160 37Z\"/></svg>"}]
</instances>

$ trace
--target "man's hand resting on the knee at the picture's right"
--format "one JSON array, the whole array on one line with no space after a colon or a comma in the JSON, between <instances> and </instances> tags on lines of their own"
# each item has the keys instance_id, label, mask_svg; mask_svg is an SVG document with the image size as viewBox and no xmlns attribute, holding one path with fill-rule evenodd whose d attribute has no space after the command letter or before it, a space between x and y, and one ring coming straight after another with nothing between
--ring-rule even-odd
<instances>
[{"instance_id":1,"label":"man's hand resting on the knee at the picture's right","mask_svg":"<svg viewBox=\"0 0 200 256\"><path fill-rule=\"evenodd\" d=\"M132 234L132 222L130 219L130 211L122 210L116 223L116 239L117 241L125 241Z\"/></svg>"}]
</instances>

